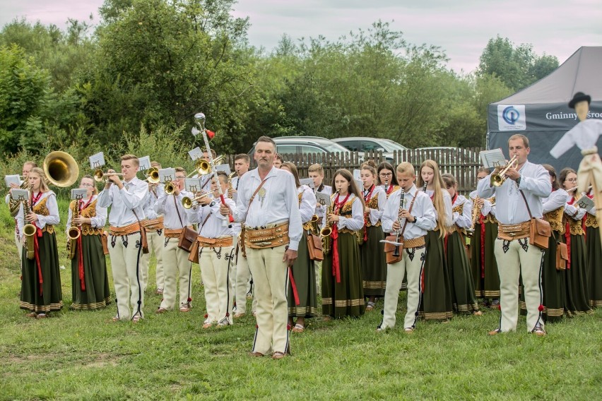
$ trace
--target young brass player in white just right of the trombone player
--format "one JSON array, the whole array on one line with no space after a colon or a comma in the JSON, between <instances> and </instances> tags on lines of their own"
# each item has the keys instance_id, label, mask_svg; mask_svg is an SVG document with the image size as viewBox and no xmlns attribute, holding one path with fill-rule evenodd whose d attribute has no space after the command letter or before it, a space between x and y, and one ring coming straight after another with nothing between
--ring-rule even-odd
<instances>
[{"instance_id":1,"label":"young brass player in white just right of the trombone player","mask_svg":"<svg viewBox=\"0 0 602 401\"><path fill-rule=\"evenodd\" d=\"M184 179L186 179L186 170L182 167L176 167L175 180L172 181L174 193L168 195L165 191L160 191L157 202L154 205L154 212L163 215L163 235L161 236L163 246L161 253L163 261L163 299L159 309L155 313L165 313L172 311L176 305L177 277L179 277L179 300L178 306L180 312L188 312L191 309L191 275L192 263L189 262L189 253L180 249L177 244L184 231L184 227L189 225L189 218L186 209L182 205L184 196L194 198L192 193L184 191Z\"/></svg>"}]
</instances>

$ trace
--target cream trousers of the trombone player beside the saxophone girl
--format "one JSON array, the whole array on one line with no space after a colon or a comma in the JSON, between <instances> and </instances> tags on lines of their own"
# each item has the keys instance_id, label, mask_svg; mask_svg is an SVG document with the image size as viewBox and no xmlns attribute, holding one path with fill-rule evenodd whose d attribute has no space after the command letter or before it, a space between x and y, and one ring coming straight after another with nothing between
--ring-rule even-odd
<instances>
[{"instance_id":1,"label":"cream trousers of the trombone player beside the saxophone girl","mask_svg":"<svg viewBox=\"0 0 602 401\"><path fill-rule=\"evenodd\" d=\"M117 297L117 316L122 321L129 320L136 315L144 317L144 290L140 271L143 253L140 233L136 232L122 237L110 235L109 241L111 271ZM130 305L133 313L130 311Z\"/></svg>"}]
</instances>

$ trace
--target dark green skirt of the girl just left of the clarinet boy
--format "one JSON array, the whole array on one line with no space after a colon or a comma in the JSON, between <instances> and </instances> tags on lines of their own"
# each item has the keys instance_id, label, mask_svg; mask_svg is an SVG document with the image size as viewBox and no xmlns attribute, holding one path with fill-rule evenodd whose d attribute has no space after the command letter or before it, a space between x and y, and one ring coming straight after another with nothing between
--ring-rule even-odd
<instances>
[{"instance_id":1,"label":"dark green skirt of the girl just left of the clarinet boy","mask_svg":"<svg viewBox=\"0 0 602 401\"><path fill-rule=\"evenodd\" d=\"M360 246L362 257L362 286L365 297L384 297L386 289L386 258L382 227L367 227L367 241Z\"/></svg>"}]
</instances>

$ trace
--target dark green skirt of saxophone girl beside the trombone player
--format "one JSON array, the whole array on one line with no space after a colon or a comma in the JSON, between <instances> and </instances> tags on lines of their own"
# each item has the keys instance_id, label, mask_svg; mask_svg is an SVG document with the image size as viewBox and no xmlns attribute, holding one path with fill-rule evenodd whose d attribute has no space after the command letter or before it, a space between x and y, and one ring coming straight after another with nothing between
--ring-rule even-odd
<instances>
[{"instance_id":1,"label":"dark green skirt of saxophone girl beside the trombone player","mask_svg":"<svg viewBox=\"0 0 602 401\"><path fill-rule=\"evenodd\" d=\"M79 253L71 259L71 309L99 309L111 303L107 263L102 252L102 244L98 235L83 235L81 237L83 251L83 283L79 272ZM79 248L79 247L78 247Z\"/></svg>"}]
</instances>

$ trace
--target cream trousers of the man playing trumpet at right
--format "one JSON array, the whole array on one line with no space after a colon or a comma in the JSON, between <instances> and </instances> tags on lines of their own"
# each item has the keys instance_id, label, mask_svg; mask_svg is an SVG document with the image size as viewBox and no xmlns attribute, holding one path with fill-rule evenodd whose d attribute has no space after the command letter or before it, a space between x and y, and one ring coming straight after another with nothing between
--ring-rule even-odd
<instances>
[{"instance_id":1,"label":"cream trousers of the man playing trumpet at right","mask_svg":"<svg viewBox=\"0 0 602 401\"><path fill-rule=\"evenodd\" d=\"M507 248L504 247L504 243ZM504 249L505 248L505 249ZM526 250L525 250L526 249ZM527 330L537 326L543 329L543 319L539 306L543 304L541 295L541 263L543 251L529 245L529 238L504 241L495 239L495 258L500 273L500 307L502 318L499 330L506 333L517 330L519 320L519 275L523 277L525 304L527 308Z\"/></svg>"}]
</instances>

